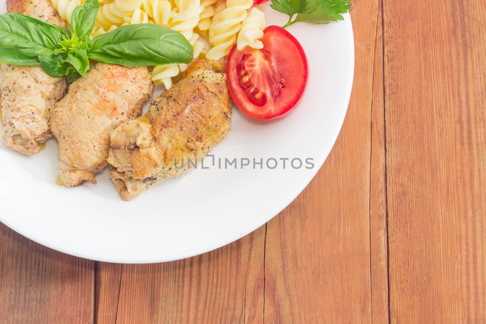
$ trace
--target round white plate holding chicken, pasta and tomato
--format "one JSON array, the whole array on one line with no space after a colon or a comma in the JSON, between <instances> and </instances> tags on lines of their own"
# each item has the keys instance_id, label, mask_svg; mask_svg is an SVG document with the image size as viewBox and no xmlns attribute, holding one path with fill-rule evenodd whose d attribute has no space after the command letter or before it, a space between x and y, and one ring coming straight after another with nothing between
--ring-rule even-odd
<instances>
[{"instance_id":1,"label":"round white plate holding chicken, pasta and tomato","mask_svg":"<svg viewBox=\"0 0 486 324\"><path fill-rule=\"evenodd\" d=\"M4 3L0 12L5 12ZM268 3L265 12L268 25L287 21ZM152 186L130 202L119 198L107 169L96 176L97 185L55 185L54 138L33 156L0 143L0 222L55 250L125 263L195 256L257 229L307 186L339 133L354 69L351 21L349 15L344 17L339 23L288 28L304 47L311 69L304 98L291 114L258 121L234 107L232 130L212 150L216 166ZM279 163L273 170L254 170L252 165L241 169L239 160L237 170L218 169L219 158L224 162L235 157L262 158L264 163L276 158ZM312 158L314 167L293 169L287 161L284 169L280 158L300 158L304 166L305 159ZM211 159L205 161L210 164Z\"/></svg>"}]
</instances>

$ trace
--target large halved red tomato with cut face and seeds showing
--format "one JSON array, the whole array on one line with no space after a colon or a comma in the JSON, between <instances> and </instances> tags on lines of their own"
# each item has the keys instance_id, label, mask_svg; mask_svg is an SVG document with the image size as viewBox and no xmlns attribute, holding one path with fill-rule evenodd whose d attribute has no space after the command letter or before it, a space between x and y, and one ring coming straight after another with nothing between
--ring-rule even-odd
<instances>
[{"instance_id":1,"label":"large halved red tomato with cut face and seeds showing","mask_svg":"<svg viewBox=\"0 0 486 324\"><path fill-rule=\"evenodd\" d=\"M282 117L302 99L309 80L307 57L299 42L285 29L268 26L263 48L248 46L228 54L226 77L233 101L255 119Z\"/></svg>"}]
</instances>

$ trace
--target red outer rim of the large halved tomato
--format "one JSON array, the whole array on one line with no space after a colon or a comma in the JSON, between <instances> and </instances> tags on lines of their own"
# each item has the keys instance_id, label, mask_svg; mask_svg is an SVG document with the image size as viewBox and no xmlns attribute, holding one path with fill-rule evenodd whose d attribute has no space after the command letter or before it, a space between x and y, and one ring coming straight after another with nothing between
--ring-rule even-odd
<instances>
[{"instance_id":1,"label":"red outer rim of the large halved tomato","mask_svg":"<svg viewBox=\"0 0 486 324\"><path fill-rule=\"evenodd\" d=\"M297 41L297 39L290 34L288 31L283 29L280 26L268 26L263 30L263 38L265 38L265 34L270 34L270 33L275 33L275 34L281 34L287 39L290 39L295 47L297 48L298 54L302 58L303 61L303 82L300 86L300 88L297 90L295 99L290 102L282 111L280 111L278 114L262 114L258 113L258 108L257 111L252 111L247 109L246 105L244 104L247 102L245 98L242 99L245 95L242 95L241 89L239 88L238 80L236 73L232 70L234 69L234 66L232 66L232 63L234 62L239 62L243 56L242 51L238 51L236 48L236 45L233 46L233 48L229 51L228 54L228 60L227 60L227 65L226 65L226 77L227 77L227 82L228 82L228 89L229 93L231 95L231 98L233 98L233 101L235 104L240 108L240 110L243 111L247 116L254 118L254 119L260 119L260 120L269 120L269 119L277 119L280 117L283 117L287 114L289 114L292 110L295 109L295 107L301 102L303 94L305 92L305 89L307 88L307 83L309 81L309 64L307 61L307 56L305 55L304 49L302 48L302 45ZM263 39L262 38L262 39ZM284 93L280 94L284 95ZM251 103L250 103L251 104Z\"/></svg>"}]
</instances>

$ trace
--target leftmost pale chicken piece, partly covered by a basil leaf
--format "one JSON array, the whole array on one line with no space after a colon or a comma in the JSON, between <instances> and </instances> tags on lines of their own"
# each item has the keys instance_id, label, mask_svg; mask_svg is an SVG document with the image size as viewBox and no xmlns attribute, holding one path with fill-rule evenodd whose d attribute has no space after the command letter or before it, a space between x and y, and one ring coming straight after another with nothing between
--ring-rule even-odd
<instances>
[{"instance_id":1,"label":"leftmost pale chicken piece, partly covered by a basil leaf","mask_svg":"<svg viewBox=\"0 0 486 324\"><path fill-rule=\"evenodd\" d=\"M25 14L66 27L49 0L7 0L7 11ZM68 90L66 78L52 78L40 67L1 63L2 141L24 154L40 152L39 143L52 136L51 109Z\"/></svg>"}]
</instances>

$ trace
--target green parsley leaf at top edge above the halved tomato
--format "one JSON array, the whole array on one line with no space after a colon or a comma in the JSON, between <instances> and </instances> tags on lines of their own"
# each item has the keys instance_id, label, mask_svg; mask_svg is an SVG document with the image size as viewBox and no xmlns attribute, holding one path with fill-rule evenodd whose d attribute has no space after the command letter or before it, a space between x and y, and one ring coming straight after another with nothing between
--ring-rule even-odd
<instances>
[{"instance_id":1,"label":"green parsley leaf at top edge above the halved tomato","mask_svg":"<svg viewBox=\"0 0 486 324\"><path fill-rule=\"evenodd\" d=\"M272 0L270 7L289 16L285 28L299 21L324 24L343 20L340 14L347 13L351 4L350 0Z\"/></svg>"}]
</instances>

